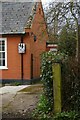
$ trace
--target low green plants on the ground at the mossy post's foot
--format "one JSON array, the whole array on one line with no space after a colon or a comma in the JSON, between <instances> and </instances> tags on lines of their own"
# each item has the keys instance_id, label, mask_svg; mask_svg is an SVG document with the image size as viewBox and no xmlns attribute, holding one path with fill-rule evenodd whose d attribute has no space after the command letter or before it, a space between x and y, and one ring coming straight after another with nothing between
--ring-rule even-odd
<instances>
[{"instance_id":1,"label":"low green plants on the ground at the mossy post's foot","mask_svg":"<svg viewBox=\"0 0 80 120\"><path fill-rule=\"evenodd\" d=\"M52 120L79 120L75 111L57 113Z\"/></svg>"}]
</instances>

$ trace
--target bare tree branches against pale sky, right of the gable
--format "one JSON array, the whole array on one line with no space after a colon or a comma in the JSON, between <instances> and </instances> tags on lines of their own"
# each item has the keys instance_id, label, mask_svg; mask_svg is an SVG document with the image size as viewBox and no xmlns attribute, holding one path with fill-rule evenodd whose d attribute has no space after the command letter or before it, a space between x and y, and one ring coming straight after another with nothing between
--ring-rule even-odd
<instances>
[{"instance_id":1,"label":"bare tree branches against pale sky, right of the gable","mask_svg":"<svg viewBox=\"0 0 80 120\"><path fill-rule=\"evenodd\" d=\"M49 33L58 34L64 25L69 24L71 29L77 28L78 16L80 15L79 1L51 2L45 8L46 21Z\"/></svg>"}]
</instances>

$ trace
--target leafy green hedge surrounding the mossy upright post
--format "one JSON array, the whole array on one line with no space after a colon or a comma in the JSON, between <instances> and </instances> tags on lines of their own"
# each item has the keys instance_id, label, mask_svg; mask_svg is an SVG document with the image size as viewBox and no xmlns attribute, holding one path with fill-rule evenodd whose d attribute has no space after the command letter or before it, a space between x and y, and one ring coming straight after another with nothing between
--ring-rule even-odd
<instances>
[{"instance_id":1,"label":"leafy green hedge surrounding the mossy upright post","mask_svg":"<svg viewBox=\"0 0 80 120\"><path fill-rule=\"evenodd\" d=\"M73 61L74 60L74 61ZM80 87L78 84L77 62L63 53L45 52L41 56L41 79L44 86L43 94L33 116L40 120L52 118L54 113L53 103L53 79L52 63L61 63L62 75L62 110L77 111L80 108ZM58 116L59 115L59 116ZM71 118L68 118L70 117ZM74 112L63 112L57 114L52 120L79 120L73 119L76 115ZM64 119L63 119L64 116ZM67 117L66 117L67 116ZM60 118L59 118L60 117Z\"/></svg>"}]
</instances>

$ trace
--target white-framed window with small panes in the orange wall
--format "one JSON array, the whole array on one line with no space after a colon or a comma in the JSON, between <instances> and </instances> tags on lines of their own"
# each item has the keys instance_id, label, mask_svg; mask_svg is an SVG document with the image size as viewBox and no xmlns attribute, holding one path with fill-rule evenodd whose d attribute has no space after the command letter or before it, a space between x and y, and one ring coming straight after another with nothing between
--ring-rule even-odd
<instances>
[{"instance_id":1,"label":"white-framed window with small panes in the orange wall","mask_svg":"<svg viewBox=\"0 0 80 120\"><path fill-rule=\"evenodd\" d=\"M0 69L7 69L7 39L0 38Z\"/></svg>"}]
</instances>

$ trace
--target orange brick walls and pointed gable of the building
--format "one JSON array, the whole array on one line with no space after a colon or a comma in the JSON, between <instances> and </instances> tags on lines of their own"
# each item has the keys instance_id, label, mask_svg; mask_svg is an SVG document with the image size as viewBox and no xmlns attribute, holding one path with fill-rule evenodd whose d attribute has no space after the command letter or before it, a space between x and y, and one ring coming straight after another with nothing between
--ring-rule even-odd
<instances>
[{"instance_id":1,"label":"orange brick walls and pointed gable of the building","mask_svg":"<svg viewBox=\"0 0 80 120\"><path fill-rule=\"evenodd\" d=\"M23 54L23 78L31 79L31 54L33 54L33 78L40 76L40 54L46 50L46 40L48 35L46 32L46 24L41 4L37 8L36 15L33 20L32 28L25 29L29 34L24 35L23 42L26 44L26 53ZM34 35L36 41L34 42ZM7 35L7 58L8 69L0 70L0 79L21 79L21 55L18 53L18 43L21 36Z\"/></svg>"}]
</instances>

